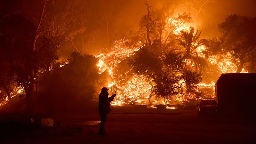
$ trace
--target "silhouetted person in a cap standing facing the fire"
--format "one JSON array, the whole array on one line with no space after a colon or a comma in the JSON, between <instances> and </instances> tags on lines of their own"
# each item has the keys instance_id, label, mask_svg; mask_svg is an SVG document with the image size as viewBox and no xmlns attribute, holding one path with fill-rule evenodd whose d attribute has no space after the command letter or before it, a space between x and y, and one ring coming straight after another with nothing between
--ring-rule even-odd
<instances>
[{"instance_id":1,"label":"silhouetted person in a cap standing facing the fire","mask_svg":"<svg viewBox=\"0 0 256 144\"><path fill-rule=\"evenodd\" d=\"M103 87L101 89L99 95L99 113L100 113L100 132L99 134L104 134L105 129L104 125L107 121L108 114L110 113L110 102L114 100L116 93L113 94L111 97L108 98L108 89Z\"/></svg>"}]
</instances>

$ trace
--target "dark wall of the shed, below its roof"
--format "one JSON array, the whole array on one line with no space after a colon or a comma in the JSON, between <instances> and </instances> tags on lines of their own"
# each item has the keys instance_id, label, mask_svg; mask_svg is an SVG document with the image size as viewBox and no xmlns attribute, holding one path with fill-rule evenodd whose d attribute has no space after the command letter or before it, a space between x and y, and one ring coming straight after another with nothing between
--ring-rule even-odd
<instances>
[{"instance_id":1,"label":"dark wall of the shed, below its roof","mask_svg":"<svg viewBox=\"0 0 256 144\"><path fill-rule=\"evenodd\" d=\"M255 113L255 88L251 83L220 81L215 87L220 110Z\"/></svg>"}]
</instances>

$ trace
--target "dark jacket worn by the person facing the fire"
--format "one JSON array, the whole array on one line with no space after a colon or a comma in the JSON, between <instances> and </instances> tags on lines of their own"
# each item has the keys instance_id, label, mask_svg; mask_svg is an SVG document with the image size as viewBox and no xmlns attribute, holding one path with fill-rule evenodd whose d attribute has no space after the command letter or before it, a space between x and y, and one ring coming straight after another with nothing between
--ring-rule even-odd
<instances>
[{"instance_id":1,"label":"dark jacket worn by the person facing the fire","mask_svg":"<svg viewBox=\"0 0 256 144\"><path fill-rule=\"evenodd\" d=\"M110 102L114 100L114 95L108 98L108 93L101 92L99 95L99 113L110 113Z\"/></svg>"}]
</instances>

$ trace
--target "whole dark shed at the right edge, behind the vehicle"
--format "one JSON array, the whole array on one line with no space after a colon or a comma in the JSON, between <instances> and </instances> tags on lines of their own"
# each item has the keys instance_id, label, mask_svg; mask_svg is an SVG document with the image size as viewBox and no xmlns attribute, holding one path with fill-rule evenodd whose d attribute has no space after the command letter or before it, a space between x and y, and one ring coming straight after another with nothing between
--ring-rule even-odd
<instances>
[{"instance_id":1,"label":"whole dark shed at the right edge, behind the vehicle","mask_svg":"<svg viewBox=\"0 0 256 144\"><path fill-rule=\"evenodd\" d=\"M256 73L221 74L214 87L220 111L256 113Z\"/></svg>"}]
</instances>

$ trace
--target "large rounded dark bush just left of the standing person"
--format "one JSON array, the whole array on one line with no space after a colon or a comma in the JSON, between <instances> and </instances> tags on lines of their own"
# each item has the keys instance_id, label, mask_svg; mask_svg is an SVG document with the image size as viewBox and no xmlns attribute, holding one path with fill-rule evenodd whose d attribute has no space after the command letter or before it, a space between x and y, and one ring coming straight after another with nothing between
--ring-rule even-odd
<instances>
[{"instance_id":1,"label":"large rounded dark bush just left of the standing person","mask_svg":"<svg viewBox=\"0 0 256 144\"><path fill-rule=\"evenodd\" d=\"M39 77L38 106L50 114L77 111L92 102L99 79L97 59L73 52L68 65Z\"/></svg>"}]
</instances>

